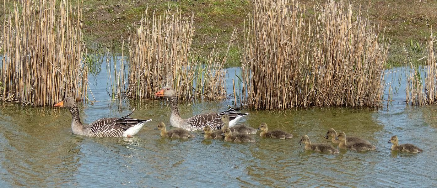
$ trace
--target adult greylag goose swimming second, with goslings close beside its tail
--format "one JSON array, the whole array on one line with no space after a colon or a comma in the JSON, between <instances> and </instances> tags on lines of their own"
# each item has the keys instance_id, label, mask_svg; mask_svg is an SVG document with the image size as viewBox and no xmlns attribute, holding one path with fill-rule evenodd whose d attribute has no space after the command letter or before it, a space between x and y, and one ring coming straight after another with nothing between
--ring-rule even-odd
<instances>
[{"instance_id":1,"label":"adult greylag goose swimming second, with goslings close beside its tail","mask_svg":"<svg viewBox=\"0 0 437 188\"><path fill-rule=\"evenodd\" d=\"M230 120L229 126L234 126L238 119L248 114L236 113L236 109L229 109L221 113L202 113L184 120L179 115L179 110L177 109L177 95L172 87L165 86L161 91L155 93L155 96L162 96L170 100L170 125L188 131L203 130L205 125L210 125L213 130L221 129L223 126L223 121L221 120L222 115L228 115Z\"/></svg>"}]
</instances>

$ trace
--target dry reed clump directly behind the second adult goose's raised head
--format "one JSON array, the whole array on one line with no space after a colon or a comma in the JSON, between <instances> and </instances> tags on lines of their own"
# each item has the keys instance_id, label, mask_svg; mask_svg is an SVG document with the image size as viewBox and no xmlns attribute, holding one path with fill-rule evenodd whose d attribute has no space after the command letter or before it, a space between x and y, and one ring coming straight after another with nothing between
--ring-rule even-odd
<instances>
[{"instance_id":1,"label":"dry reed clump directly behind the second adult goose's raised head","mask_svg":"<svg viewBox=\"0 0 437 188\"><path fill-rule=\"evenodd\" d=\"M194 34L194 13L181 17L180 10L156 12L133 24L129 34L130 61L128 97L155 99L154 93L173 86L179 99L195 96L222 98L224 64L212 53L204 58L190 49ZM205 62L205 63L201 63Z\"/></svg>"}]
</instances>

